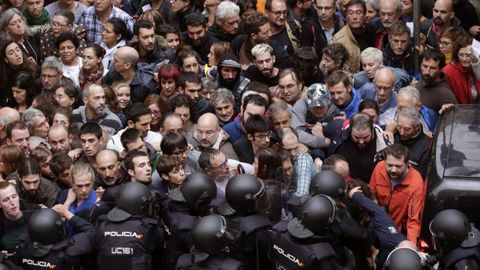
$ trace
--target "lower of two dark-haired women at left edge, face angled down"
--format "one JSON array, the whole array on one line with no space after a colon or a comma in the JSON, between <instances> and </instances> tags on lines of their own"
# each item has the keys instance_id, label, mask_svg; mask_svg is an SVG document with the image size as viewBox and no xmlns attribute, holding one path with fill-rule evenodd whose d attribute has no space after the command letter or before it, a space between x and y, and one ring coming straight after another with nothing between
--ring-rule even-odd
<instances>
[{"instance_id":1,"label":"lower of two dark-haired women at left edge, face angled down","mask_svg":"<svg viewBox=\"0 0 480 270\"><path fill-rule=\"evenodd\" d=\"M14 109L19 113L23 113L28 109L36 95L35 81L32 75L25 71L19 72L12 85L12 95L16 103Z\"/></svg>"}]
</instances>

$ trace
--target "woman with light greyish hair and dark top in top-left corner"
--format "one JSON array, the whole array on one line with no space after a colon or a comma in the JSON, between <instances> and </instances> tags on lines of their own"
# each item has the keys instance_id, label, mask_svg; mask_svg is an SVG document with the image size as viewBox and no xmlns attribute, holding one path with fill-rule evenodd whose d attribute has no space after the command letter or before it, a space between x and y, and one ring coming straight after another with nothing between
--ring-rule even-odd
<instances>
[{"instance_id":1,"label":"woman with light greyish hair and dark top in top-left corner","mask_svg":"<svg viewBox=\"0 0 480 270\"><path fill-rule=\"evenodd\" d=\"M19 9L11 8L3 12L0 17L0 37L13 39L21 45L20 49L28 56L25 61L40 65L40 46L30 33L27 20Z\"/></svg>"}]
</instances>

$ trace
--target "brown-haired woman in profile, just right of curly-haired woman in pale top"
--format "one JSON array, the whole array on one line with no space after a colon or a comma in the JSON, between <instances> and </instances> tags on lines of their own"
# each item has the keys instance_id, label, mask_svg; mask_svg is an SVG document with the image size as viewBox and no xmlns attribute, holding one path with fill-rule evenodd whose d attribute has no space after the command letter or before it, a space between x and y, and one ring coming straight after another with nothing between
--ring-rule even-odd
<instances>
[{"instance_id":1,"label":"brown-haired woman in profile, just right of curly-haired woman in pale top","mask_svg":"<svg viewBox=\"0 0 480 270\"><path fill-rule=\"evenodd\" d=\"M83 66L80 70L80 88L84 89L90 84L101 84L105 70L102 60L105 49L98 44L90 44L83 50Z\"/></svg>"}]
</instances>

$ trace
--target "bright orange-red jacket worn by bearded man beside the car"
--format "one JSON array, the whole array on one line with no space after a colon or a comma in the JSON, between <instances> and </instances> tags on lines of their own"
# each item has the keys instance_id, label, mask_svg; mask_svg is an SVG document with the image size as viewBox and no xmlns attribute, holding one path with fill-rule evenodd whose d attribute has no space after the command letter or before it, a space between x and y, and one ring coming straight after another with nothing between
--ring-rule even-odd
<instances>
[{"instance_id":1,"label":"bright orange-red jacket worn by bearded man beside the car","mask_svg":"<svg viewBox=\"0 0 480 270\"><path fill-rule=\"evenodd\" d=\"M375 166L369 185L377 196L378 204L385 206L398 230L416 244L422 226L424 204L424 183L420 173L409 166L403 181L392 190L385 161L381 161Z\"/></svg>"}]
</instances>

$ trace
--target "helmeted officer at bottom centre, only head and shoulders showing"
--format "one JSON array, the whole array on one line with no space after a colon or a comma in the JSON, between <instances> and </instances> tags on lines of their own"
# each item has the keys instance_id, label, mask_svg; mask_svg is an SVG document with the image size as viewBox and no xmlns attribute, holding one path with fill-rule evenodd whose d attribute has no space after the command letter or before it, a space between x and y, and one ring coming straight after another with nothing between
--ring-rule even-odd
<instances>
[{"instance_id":1,"label":"helmeted officer at bottom centre, only head and shoulders showing","mask_svg":"<svg viewBox=\"0 0 480 270\"><path fill-rule=\"evenodd\" d=\"M176 270L240 270L242 264L220 255L229 231L227 220L220 215L202 217L192 228L194 248L178 258Z\"/></svg>"}]
</instances>

